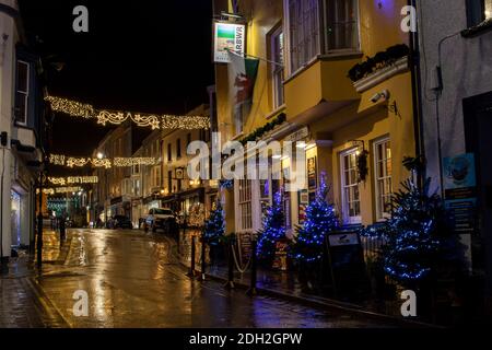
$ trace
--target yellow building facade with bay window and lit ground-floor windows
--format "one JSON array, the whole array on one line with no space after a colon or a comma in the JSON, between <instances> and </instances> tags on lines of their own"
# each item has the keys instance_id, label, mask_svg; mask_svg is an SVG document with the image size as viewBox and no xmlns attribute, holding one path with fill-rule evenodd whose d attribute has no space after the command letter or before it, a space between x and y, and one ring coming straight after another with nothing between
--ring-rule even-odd
<instances>
[{"instance_id":1,"label":"yellow building facade with bay window and lit ground-floor windows","mask_svg":"<svg viewBox=\"0 0 492 350\"><path fill-rule=\"evenodd\" d=\"M410 45L401 30L406 5L405 0L214 1L215 13L242 16L246 55L260 59L241 128L233 118L227 65L215 65L222 139L255 133L257 140L295 141L305 151L306 188L285 192L283 199L289 235L302 224L321 177L344 225L370 225L390 214L390 195L409 176L402 160L415 155L409 55L388 50L403 47L405 54ZM379 61L349 78L367 57ZM282 122L258 132L279 116ZM294 164L282 158L284 170L295 172ZM226 194L227 232L257 232L265 205L284 184L236 180Z\"/></svg>"}]
</instances>

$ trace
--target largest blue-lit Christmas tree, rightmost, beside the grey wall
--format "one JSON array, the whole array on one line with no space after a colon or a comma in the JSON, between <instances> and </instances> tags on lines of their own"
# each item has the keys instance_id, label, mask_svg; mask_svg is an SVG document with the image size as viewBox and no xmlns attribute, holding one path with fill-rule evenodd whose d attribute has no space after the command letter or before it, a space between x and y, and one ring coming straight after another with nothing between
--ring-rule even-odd
<instances>
[{"instance_id":1,"label":"largest blue-lit Christmas tree, rightmost, beside the grey wall","mask_svg":"<svg viewBox=\"0 0 492 350\"><path fill-rule=\"evenodd\" d=\"M459 259L443 201L430 191L431 179L419 185L414 179L419 168L407 167L413 176L394 194L391 218L380 226L363 230L362 235L384 242L379 261L386 276L402 285L414 287L437 273L440 265L459 266Z\"/></svg>"}]
</instances>

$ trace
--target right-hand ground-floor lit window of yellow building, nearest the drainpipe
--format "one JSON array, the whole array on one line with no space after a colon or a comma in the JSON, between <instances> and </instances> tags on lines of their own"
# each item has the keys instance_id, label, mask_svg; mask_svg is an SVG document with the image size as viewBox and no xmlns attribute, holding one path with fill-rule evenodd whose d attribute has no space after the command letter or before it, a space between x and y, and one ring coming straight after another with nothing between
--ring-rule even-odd
<instances>
[{"instance_id":1,"label":"right-hand ground-floor lit window of yellow building, nearest the drainpipe","mask_svg":"<svg viewBox=\"0 0 492 350\"><path fill-rule=\"evenodd\" d=\"M374 143L374 178L376 197L376 219L389 218L391 211L393 167L391 143L389 139Z\"/></svg>"}]
</instances>

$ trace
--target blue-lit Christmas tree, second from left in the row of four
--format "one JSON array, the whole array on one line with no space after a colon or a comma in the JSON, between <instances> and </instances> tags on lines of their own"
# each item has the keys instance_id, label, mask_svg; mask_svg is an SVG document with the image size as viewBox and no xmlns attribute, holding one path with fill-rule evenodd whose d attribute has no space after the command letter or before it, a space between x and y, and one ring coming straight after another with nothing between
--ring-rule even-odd
<instances>
[{"instance_id":1,"label":"blue-lit Christmas tree, second from left in the row of four","mask_svg":"<svg viewBox=\"0 0 492 350\"><path fill-rule=\"evenodd\" d=\"M285 238L285 217L282 208L282 192L273 196L273 202L263 215L262 229L258 232L256 256L265 265L271 265L276 255L277 242Z\"/></svg>"}]
</instances>

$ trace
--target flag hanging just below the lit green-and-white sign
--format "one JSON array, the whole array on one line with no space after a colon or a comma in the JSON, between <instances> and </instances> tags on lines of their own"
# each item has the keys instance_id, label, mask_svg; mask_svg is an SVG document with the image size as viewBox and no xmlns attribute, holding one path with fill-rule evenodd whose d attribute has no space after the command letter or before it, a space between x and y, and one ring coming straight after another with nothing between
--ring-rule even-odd
<instances>
[{"instance_id":1,"label":"flag hanging just below the lit green-and-white sign","mask_svg":"<svg viewBox=\"0 0 492 350\"><path fill-rule=\"evenodd\" d=\"M241 110L244 105L253 101L256 75L258 73L258 59L244 58L229 51L229 90L234 110Z\"/></svg>"}]
</instances>

